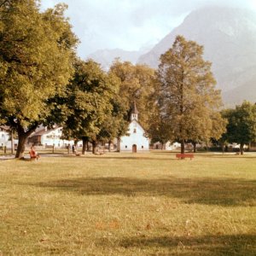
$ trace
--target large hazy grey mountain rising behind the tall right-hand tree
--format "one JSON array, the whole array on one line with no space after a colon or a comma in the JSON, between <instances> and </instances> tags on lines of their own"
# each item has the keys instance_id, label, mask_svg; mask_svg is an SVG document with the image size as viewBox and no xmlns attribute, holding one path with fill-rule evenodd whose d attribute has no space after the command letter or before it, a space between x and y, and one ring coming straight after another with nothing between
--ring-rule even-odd
<instances>
[{"instance_id":1,"label":"large hazy grey mountain rising behind the tall right-hand tree","mask_svg":"<svg viewBox=\"0 0 256 256\"><path fill-rule=\"evenodd\" d=\"M245 9L207 7L190 13L138 62L158 67L177 35L204 46L226 105L256 102L256 14Z\"/></svg>"}]
</instances>

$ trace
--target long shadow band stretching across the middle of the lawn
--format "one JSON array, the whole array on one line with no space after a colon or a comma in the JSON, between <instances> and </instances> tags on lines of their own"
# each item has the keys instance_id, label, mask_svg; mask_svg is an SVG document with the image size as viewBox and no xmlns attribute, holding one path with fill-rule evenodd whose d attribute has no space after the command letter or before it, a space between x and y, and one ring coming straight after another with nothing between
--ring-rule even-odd
<instances>
[{"instance_id":1,"label":"long shadow band stretching across the middle of the lawn","mask_svg":"<svg viewBox=\"0 0 256 256\"><path fill-rule=\"evenodd\" d=\"M36 185L80 195L153 195L178 198L189 204L256 206L256 181L243 179L88 177Z\"/></svg>"}]
</instances>

